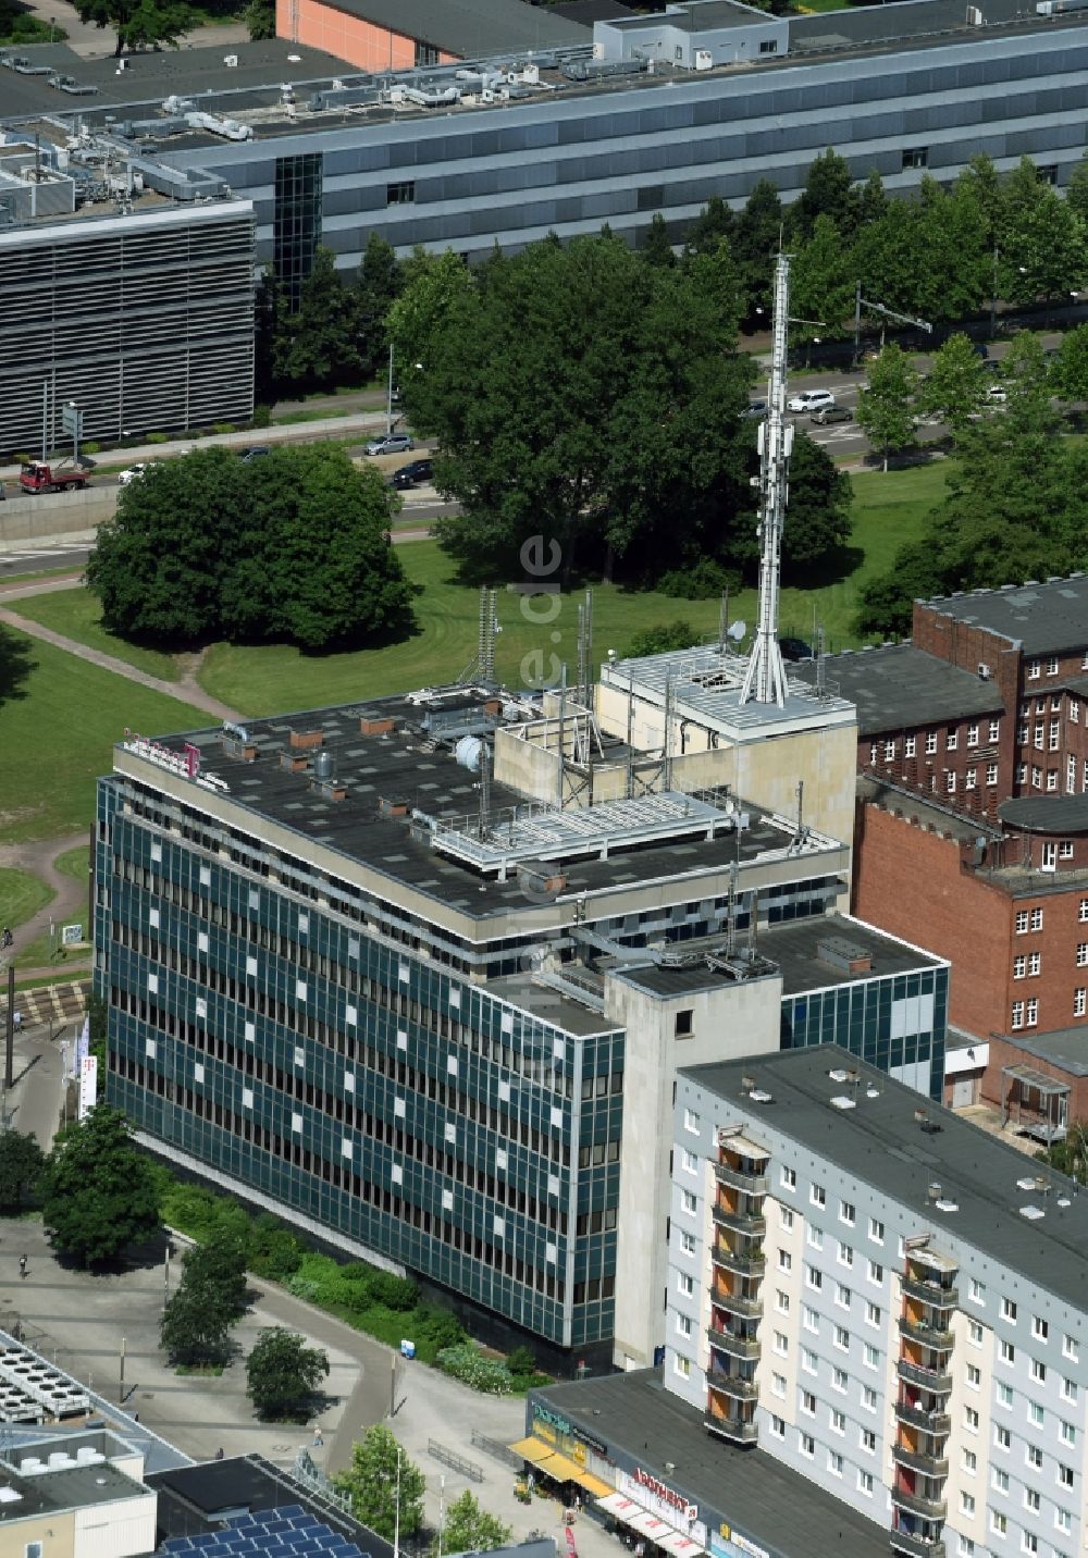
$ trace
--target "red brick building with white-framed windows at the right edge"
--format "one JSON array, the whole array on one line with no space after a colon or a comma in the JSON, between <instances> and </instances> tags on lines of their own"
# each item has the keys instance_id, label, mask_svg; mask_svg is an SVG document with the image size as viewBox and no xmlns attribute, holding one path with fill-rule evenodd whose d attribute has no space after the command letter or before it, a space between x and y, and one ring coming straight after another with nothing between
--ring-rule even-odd
<instances>
[{"instance_id":1,"label":"red brick building with white-framed windows at the right edge","mask_svg":"<svg viewBox=\"0 0 1088 1558\"><path fill-rule=\"evenodd\" d=\"M952 964L948 1100L1088 1117L1088 576L915 601L825 676L857 706L854 913Z\"/></svg>"}]
</instances>

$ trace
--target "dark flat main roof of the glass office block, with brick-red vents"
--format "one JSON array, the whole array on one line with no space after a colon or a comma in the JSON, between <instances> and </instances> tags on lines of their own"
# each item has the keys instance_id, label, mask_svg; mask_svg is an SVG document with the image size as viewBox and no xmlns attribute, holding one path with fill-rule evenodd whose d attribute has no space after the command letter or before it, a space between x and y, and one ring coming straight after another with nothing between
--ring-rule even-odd
<instances>
[{"instance_id":1,"label":"dark flat main roof of the glass office block, with brick-red vents","mask_svg":"<svg viewBox=\"0 0 1088 1558\"><path fill-rule=\"evenodd\" d=\"M221 726L167 735L159 745L178 757L185 745L195 746L203 762L201 782L209 782L207 776L214 776L217 793L229 805L287 826L301 840L326 844L461 915L485 918L497 910L513 913L536 907L538 901L527 896L525 882L514 869L502 880L489 869L474 869L466 860L435 848L435 841L452 823L458 823L466 834L479 827L480 776L457 760L452 745L438 740L433 726L424 724L435 710L410 701L413 696L376 698L365 704L337 704L267 720L246 720L245 731L257 753L254 762L245 760L240 746L224 743ZM477 695L475 709L463 714L463 723L486 723L483 709L494 698L502 701L502 695ZM393 729L365 735L360 732L363 715L379 723L393 721ZM291 748L291 732L318 731L320 748ZM140 756L132 745L126 749L125 743L118 743L118 759L129 751ZM284 754L307 760L315 751L332 757L335 777L346 788L343 799L332 799L315 788L316 777L310 767L291 771L282 765ZM204 793L201 787L192 785L192 804L200 805ZM397 802L408 815L382 815L382 801ZM536 815L542 810L539 802L530 802L507 785L493 782L489 824L494 821L499 826L518 809ZM605 810L613 815L609 807ZM580 826L572 837L578 843L572 846L569 860L563 857L561 843L558 852L552 840L541 843L539 860L560 860L566 879L566 885L549 901L569 901L580 893L616 888L634 890L680 877L686 880L678 887L678 894L683 891L692 896L692 879L701 872L725 872L737 860L744 869L759 860L786 858L787 851L801 877L809 862L809 874L817 874L828 852L842 849L837 841L820 835L809 835L798 848L792 824L776 821L772 813L747 802L744 810L748 813L748 826L740 830L722 827L714 838L692 837L681 820L675 837L639 837L633 832L627 843L609 840L606 858L586 852L586 830L592 834L594 826L591 810L575 812ZM410 826L413 812L421 816L416 826ZM723 813L717 815L725 821ZM441 826L432 832L429 820ZM238 820L238 826L245 827L245 823ZM254 827L254 834L259 837L260 827ZM602 849L603 838L602 830Z\"/></svg>"}]
</instances>

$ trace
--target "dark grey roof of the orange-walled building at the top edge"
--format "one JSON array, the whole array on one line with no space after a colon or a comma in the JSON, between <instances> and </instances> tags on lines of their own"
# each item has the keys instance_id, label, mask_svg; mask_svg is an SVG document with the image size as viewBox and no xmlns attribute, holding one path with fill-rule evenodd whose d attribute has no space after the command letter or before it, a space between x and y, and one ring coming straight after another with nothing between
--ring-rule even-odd
<instances>
[{"instance_id":1,"label":"dark grey roof of the orange-walled building at the top edge","mask_svg":"<svg viewBox=\"0 0 1088 1558\"><path fill-rule=\"evenodd\" d=\"M460 59L507 50L592 44L592 28L525 0L326 0L334 11L387 26Z\"/></svg>"}]
</instances>

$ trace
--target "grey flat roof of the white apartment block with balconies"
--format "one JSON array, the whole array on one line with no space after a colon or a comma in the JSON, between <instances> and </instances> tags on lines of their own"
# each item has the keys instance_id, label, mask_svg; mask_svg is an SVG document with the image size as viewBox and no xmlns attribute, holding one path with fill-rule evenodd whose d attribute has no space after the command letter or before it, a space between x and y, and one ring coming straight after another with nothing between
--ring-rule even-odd
<instances>
[{"instance_id":1,"label":"grey flat roof of the white apartment block with balconies","mask_svg":"<svg viewBox=\"0 0 1088 1558\"><path fill-rule=\"evenodd\" d=\"M843 1084L828 1075L837 1067L860 1073L853 1109L831 1103L843 1092ZM728 1098L729 1108L750 1122L745 1130L756 1139L764 1122L906 1206L920 1229L932 1229L937 1243L948 1229L949 1235L974 1245L1026 1281L1083 1309L1088 1197L1072 1195L1072 1181L1065 1175L1026 1161L1015 1147L951 1109L923 1103L913 1087L835 1044L692 1066L681 1075ZM745 1077L751 1081L742 1089ZM768 1094L770 1102L750 1102L748 1087ZM920 1108L937 1130L923 1130L917 1119ZM1044 1172L1054 1186L1051 1195L1018 1186L1037 1172ZM934 1206L927 1193L934 1181L956 1203L954 1212ZM1060 1206L1060 1198L1068 1198L1069 1204ZM1044 1215L1027 1218L1021 1212L1024 1206L1040 1207Z\"/></svg>"}]
</instances>

